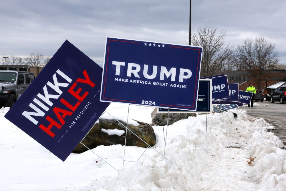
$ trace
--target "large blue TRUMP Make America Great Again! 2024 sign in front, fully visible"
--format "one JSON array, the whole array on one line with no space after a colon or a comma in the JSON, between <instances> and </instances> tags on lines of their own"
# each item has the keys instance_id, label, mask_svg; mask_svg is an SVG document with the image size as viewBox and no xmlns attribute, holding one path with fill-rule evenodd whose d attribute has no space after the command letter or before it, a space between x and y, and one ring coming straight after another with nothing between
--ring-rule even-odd
<instances>
[{"instance_id":1,"label":"large blue TRUMP Make America Great Again! 2024 sign in front, fully visible","mask_svg":"<svg viewBox=\"0 0 286 191\"><path fill-rule=\"evenodd\" d=\"M202 47L106 38L101 101L195 111Z\"/></svg>"}]
</instances>

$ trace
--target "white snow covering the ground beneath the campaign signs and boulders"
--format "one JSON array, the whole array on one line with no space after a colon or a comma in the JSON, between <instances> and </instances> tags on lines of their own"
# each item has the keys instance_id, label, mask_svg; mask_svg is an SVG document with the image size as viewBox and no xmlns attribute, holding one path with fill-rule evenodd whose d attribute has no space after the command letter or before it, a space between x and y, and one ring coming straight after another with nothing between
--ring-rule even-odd
<instances>
[{"instance_id":1,"label":"white snow covering the ground beneath the campaign signs and boulders","mask_svg":"<svg viewBox=\"0 0 286 191\"><path fill-rule=\"evenodd\" d=\"M259 107L259 106L257 106ZM130 106L128 123L151 123L154 108ZM245 110L189 117L168 126L165 157L152 148L99 146L62 162L3 116L0 109L0 190L286 190L286 151L264 119ZM127 121L128 105L107 112ZM103 118L110 118L105 113ZM166 126L153 126L164 155ZM118 134L118 136L121 133ZM256 157L251 165L249 157Z\"/></svg>"}]
</instances>

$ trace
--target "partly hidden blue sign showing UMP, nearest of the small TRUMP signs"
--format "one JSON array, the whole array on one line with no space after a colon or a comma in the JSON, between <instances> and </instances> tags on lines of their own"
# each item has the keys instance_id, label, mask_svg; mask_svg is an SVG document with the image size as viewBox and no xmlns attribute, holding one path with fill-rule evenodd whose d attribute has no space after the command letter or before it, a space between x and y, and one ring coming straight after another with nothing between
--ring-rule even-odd
<instances>
[{"instance_id":1,"label":"partly hidden blue sign showing UMP, nearest of the small TRUMP signs","mask_svg":"<svg viewBox=\"0 0 286 191\"><path fill-rule=\"evenodd\" d=\"M208 79L212 79L212 100L230 98L227 76L208 77Z\"/></svg>"}]
</instances>

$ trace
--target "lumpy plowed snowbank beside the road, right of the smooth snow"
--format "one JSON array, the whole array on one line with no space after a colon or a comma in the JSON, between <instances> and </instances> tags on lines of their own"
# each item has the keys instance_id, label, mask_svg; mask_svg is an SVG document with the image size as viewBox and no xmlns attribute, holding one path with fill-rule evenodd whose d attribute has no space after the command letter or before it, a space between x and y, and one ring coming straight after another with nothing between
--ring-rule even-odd
<instances>
[{"instance_id":1,"label":"lumpy plowed snowbank beside the road, right of the smooth snow","mask_svg":"<svg viewBox=\"0 0 286 191\"><path fill-rule=\"evenodd\" d=\"M206 133L206 119L203 117L205 115L198 116L197 120L190 117L169 126L170 129L186 128L187 132L186 135L177 135L168 141L165 155L168 160L163 160L162 155L152 151L152 154L144 155L131 169L120 171L118 177L96 180L87 187L87 190L100 188L106 190L265 190L276 188L281 190L285 188L286 151L279 149L283 147L282 141L273 133L267 132L269 124L264 119L251 121L246 111L238 113L237 120L233 118L231 112L225 113L223 119L221 114L210 114L208 133ZM154 128L156 129L156 126ZM244 154L227 156L225 159L241 157L241 159L237 158L237 161L241 163L242 168L239 166L236 170L241 170L241 172L235 172L236 176L232 177L238 180L226 181L226 178L222 178L216 171L227 171L230 162L221 161L224 165L216 168L217 161L213 160L216 159L214 157L216 155L221 155L220 159L225 157L223 155L227 155L226 145L230 138L228 136L237 133L238 128L240 134L246 135L245 139L239 143ZM238 139L234 141L239 142ZM163 153L164 148L161 142L157 143L156 147L160 153ZM256 157L253 167L248 166L246 162L250 155ZM216 178L218 180L215 180ZM250 183L251 181L253 183ZM224 187L225 184L227 188Z\"/></svg>"}]
</instances>

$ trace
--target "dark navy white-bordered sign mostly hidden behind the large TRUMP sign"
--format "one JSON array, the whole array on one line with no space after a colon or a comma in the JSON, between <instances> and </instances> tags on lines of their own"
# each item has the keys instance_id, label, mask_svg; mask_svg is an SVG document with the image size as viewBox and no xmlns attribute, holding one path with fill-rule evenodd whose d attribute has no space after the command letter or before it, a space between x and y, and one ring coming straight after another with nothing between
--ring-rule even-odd
<instances>
[{"instance_id":1,"label":"dark navy white-bordered sign mostly hidden behind the large TRUMP sign","mask_svg":"<svg viewBox=\"0 0 286 191\"><path fill-rule=\"evenodd\" d=\"M157 113L212 113L212 94L210 91L212 86L211 83L212 81L210 79L200 79L196 111L157 108Z\"/></svg>"}]
</instances>

